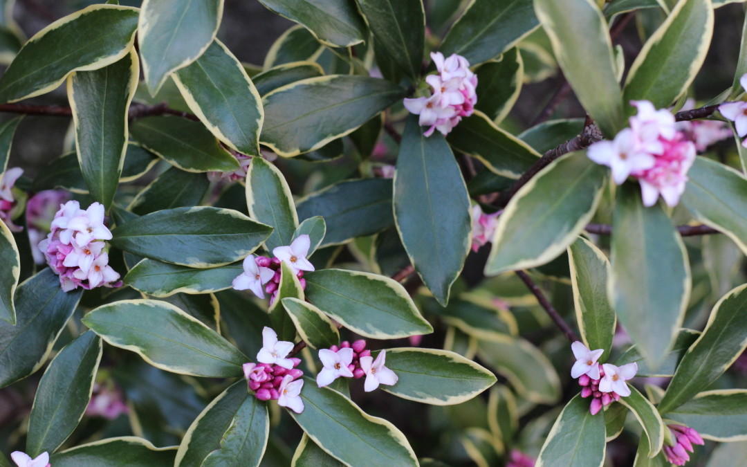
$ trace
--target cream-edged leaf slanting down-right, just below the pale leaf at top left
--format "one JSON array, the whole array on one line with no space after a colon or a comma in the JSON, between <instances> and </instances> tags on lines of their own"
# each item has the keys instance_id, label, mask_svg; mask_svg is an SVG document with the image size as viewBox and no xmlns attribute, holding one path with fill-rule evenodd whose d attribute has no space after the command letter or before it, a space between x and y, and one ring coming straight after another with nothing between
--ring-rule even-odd
<instances>
[{"instance_id":1,"label":"cream-edged leaf slanting down-right, just below the pale leaf at top left","mask_svg":"<svg viewBox=\"0 0 747 467\"><path fill-rule=\"evenodd\" d=\"M220 40L173 78L189 108L215 137L235 151L259 155L261 98L241 62Z\"/></svg>"}]
</instances>

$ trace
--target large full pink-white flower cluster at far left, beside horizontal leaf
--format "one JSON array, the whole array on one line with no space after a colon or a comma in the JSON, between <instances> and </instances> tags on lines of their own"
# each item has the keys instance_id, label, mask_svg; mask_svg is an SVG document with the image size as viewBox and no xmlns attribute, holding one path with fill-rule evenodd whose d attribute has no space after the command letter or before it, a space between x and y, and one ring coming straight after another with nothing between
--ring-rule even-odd
<instances>
[{"instance_id":1,"label":"large full pink-white flower cluster at far left, beside horizontal leaf","mask_svg":"<svg viewBox=\"0 0 747 467\"><path fill-rule=\"evenodd\" d=\"M85 211L77 201L60 205L52 232L40 241L46 262L60 276L63 291L82 287L120 287L120 274L104 251L111 232L104 225L104 206L94 202Z\"/></svg>"}]
</instances>

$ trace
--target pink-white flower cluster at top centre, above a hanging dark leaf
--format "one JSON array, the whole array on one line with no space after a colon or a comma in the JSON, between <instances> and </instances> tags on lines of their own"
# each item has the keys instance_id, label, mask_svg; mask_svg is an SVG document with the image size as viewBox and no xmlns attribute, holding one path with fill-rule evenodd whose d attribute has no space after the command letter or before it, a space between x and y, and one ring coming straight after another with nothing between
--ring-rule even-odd
<instances>
[{"instance_id":1,"label":"pink-white flower cluster at top centre, above a hanging dark leaf","mask_svg":"<svg viewBox=\"0 0 747 467\"><path fill-rule=\"evenodd\" d=\"M477 75L469 69L469 62L461 55L452 54L444 59L441 52L431 52L438 73L428 75L430 97L405 99L405 108L420 115L418 124L427 126L424 133L430 136L435 130L448 134L462 117L469 117L477 104Z\"/></svg>"}]
</instances>

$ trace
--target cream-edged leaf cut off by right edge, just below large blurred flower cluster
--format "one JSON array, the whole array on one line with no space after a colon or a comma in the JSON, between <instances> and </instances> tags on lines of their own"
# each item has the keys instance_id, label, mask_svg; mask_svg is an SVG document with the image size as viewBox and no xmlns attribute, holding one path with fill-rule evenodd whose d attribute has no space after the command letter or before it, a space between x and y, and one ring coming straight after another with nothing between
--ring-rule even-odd
<instances>
[{"instance_id":1,"label":"cream-edged leaf cut off by right edge, just below large blurred flower cluster","mask_svg":"<svg viewBox=\"0 0 747 467\"><path fill-rule=\"evenodd\" d=\"M698 157L687 173L682 204L696 219L719 229L747 254L747 179L737 170Z\"/></svg>"}]
</instances>

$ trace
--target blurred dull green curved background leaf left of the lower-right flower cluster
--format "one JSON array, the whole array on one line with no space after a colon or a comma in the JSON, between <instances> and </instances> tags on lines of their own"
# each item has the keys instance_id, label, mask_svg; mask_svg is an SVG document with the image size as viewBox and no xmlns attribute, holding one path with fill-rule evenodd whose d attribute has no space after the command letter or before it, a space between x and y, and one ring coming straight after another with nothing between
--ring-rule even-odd
<instances>
[{"instance_id":1,"label":"blurred dull green curved background leaf left of the lower-right flower cluster","mask_svg":"<svg viewBox=\"0 0 747 467\"><path fill-rule=\"evenodd\" d=\"M506 377L523 398L534 403L556 403L560 399L560 378L555 368L529 341L495 336L480 341L477 355Z\"/></svg>"}]
</instances>

